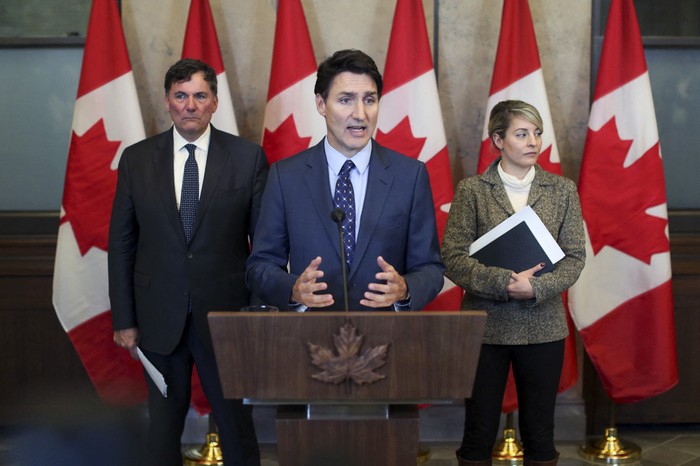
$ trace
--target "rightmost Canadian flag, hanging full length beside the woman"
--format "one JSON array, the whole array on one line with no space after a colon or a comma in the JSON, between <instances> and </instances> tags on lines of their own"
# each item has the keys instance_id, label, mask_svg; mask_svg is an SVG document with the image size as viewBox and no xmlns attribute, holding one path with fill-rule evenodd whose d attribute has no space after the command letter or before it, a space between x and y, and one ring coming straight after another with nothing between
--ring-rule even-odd
<instances>
[{"instance_id":1,"label":"rightmost Canadian flag, hanging full length beside the woman","mask_svg":"<svg viewBox=\"0 0 700 466\"><path fill-rule=\"evenodd\" d=\"M574 321L616 403L678 383L666 187L654 102L632 0L610 3L579 194L586 266Z\"/></svg>"}]
</instances>

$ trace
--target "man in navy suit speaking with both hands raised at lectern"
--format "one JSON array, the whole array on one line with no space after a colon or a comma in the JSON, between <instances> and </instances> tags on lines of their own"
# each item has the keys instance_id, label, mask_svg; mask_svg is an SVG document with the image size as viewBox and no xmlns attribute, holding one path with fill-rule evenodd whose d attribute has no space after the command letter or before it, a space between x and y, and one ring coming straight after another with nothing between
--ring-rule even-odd
<instances>
[{"instance_id":1,"label":"man in navy suit speaking with both hands raised at lectern","mask_svg":"<svg viewBox=\"0 0 700 466\"><path fill-rule=\"evenodd\" d=\"M341 50L319 66L314 92L327 136L272 166L247 283L280 309L343 309L346 256L350 310L421 309L443 284L433 198L422 162L371 138L381 74L365 53Z\"/></svg>"}]
</instances>

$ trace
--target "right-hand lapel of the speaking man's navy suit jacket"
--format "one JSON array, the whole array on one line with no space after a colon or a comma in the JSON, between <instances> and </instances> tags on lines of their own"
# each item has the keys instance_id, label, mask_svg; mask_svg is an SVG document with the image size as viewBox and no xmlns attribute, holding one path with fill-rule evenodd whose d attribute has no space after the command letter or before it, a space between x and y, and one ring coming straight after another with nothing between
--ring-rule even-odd
<instances>
[{"instance_id":1,"label":"right-hand lapel of the speaking man's navy suit jacket","mask_svg":"<svg viewBox=\"0 0 700 466\"><path fill-rule=\"evenodd\" d=\"M394 176L389 170L390 165L388 157L384 154L384 149L372 140L367 191L365 192L365 203L362 206L360 231L357 243L355 243L355 258L350 267L350 275L355 272L357 265L361 262L365 252L367 252L367 247L379 223L384 205L389 199L389 191L394 182Z\"/></svg>"}]
</instances>

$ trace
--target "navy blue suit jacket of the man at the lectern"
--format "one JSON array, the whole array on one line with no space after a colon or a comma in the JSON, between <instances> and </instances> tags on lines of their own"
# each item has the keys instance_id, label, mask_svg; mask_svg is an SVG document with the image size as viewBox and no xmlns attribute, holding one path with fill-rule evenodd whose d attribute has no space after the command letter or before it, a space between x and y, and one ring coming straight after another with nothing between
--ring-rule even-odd
<instances>
[{"instance_id":1,"label":"navy blue suit jacket of the man at the lectern","mask_svg":"<svg viewBox=\"0 0 700 466\"><path fill-rule=\"evenodd\" d=\"M355 255L348 271L350 310L360 305L369 283L381 272L382 256L408 285L411 310L440 292L444 267L425 164L372 140L369 178ZM342 259L338 225L331 219L332 193L323 141L270 169L263 194L246 282L253 294L280 309L289 308L292 288L315 257L334 305L342 310ZM287 264L289 263L289 272Z\"/></svg>"}]
</instances>

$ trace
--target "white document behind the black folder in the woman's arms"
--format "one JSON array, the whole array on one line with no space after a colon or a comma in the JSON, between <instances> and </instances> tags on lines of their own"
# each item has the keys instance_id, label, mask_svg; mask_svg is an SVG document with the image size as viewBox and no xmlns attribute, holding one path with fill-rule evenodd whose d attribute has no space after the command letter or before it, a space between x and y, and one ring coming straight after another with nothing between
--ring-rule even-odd
<instances>
[{"instance_id":1,"label":"white document behind the black folder in the woman's arms","mask_svg":"<svg viewBox=\"0 0 700 466\"><path fill-rule=\"evenodd\" d=\"M540 244L545 254L547 254L547 257L549 257L549 260L552 261L552 264L556 264L564 258L566 254L564 254L564 251L561 250L557 241L551 233L549 233L547 227L544 226L542 219L540 219L529 205L523 207L469 245L469 255L473 255L478 250L488 246L494 240L508 233L522 222L525 222L528 228L530 228L530 231L537 239L537 242Z\"/></svg>"}]
</instances>

